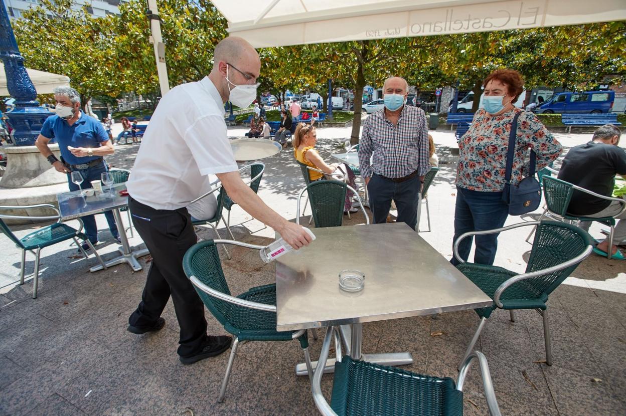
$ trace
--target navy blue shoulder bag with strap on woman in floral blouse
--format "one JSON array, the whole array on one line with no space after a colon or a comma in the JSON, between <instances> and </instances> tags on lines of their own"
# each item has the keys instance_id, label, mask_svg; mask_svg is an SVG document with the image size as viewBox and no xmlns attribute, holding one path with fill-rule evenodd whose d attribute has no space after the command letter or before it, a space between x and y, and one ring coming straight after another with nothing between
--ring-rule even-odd
<instances>
[{"instance_id":1,"label":"navy blue shoulder bag with strap on woman in floral blouse","mask_svg":"<svg viewBox=\"0 0 626 416\"><path fill-rule=\"evenodd\" d=\"M517 136L517 119L521 113L524 113L524 111L515 114L511 124L509 147L506 155L505 188L502 192L502 200L509 206L510 215L522 215L535 211L541 203L541 186L535 178L535 151L530 151L530 175L523 178L517 185L511 183L511 170L513 170Z\"/></svg>"}]
</instances>

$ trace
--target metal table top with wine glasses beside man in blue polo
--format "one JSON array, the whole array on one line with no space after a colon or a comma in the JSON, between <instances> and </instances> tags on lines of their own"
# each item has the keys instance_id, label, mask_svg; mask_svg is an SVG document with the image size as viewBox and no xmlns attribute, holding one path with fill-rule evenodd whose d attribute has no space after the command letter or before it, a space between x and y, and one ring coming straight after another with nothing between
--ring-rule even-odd
<instances>
[{"instance_id":1,"label":"metal table top with wine glasses beside man in blue polo","mask_svg":"<svg viewBox=\"0 0 626 416\"><path fill-rule=\"evenodd\" d=\"M125 183L112 186L115 198L105 195L81 196L81 191L59 193L56 200L59 201L59 211L63 220L71 220L80 216L100 214L128 205L128 196L121 196L120 191L126 189Z\"/></svg>"}]
</instances>

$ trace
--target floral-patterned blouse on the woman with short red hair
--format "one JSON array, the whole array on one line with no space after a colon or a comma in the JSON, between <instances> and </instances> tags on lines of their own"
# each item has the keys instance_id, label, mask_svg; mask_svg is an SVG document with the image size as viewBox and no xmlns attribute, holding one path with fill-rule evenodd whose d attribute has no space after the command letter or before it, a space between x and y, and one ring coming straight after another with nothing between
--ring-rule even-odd
<instances>
[{"instance_id":1,"label":"floral-patterned blouse on the woman with short red hair","mask_svg":"<svg viewBox=\"0 0 626 416\"><path fill-rule=\"evenodd\" d=\"M471 191L498 192L505 186L506 153L513 117L520 108L500 116L490 116L484 109L476 112L467 133L459 141L459 162L456 166L456 186ZM530 151L536 153L538 171L558 158L563 146L541 124L533 113L526 111L517 119L517 139L513 158L511 182L518 183L527 176Z\"/></svg>"}]
</instances>

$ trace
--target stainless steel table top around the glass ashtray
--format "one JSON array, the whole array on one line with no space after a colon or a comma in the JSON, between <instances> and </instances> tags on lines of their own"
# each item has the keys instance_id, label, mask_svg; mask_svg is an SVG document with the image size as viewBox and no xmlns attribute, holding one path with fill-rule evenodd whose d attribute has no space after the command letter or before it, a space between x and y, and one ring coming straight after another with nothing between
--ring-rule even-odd
<instances>
[{"instance_id":1,"label":"stainless steel table top around the glass ashtray","mask_svg":"<svg viewBox=\"0 0 626 416\"><path fill-rule=\"evenodd\" d=\"M491 299L405 223L314 228L316 240L276 260L277 330L481 308ZM365 274L360 292L339 272Z\"/></svg>"}]
</instances>

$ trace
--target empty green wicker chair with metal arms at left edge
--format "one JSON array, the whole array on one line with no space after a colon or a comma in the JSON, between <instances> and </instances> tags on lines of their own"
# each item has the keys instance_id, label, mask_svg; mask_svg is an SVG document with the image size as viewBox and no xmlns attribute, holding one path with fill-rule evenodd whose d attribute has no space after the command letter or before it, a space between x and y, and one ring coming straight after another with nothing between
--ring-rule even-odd
<instances>
[{"instance_id":1,"label":"empty green wicker chair with metal arms at left edge","mask_svg":"<svg viewBox=\"0 0 626 416\"><path fill-rule=\"evenodd\" d=\"M15 245L22 250L22 261L21 261L21 265L19 268L19 284L20 285L24 284L24 263L26 262L26 251L36 250L34 251L35 269L33 273L33 299L37 297L37 287L38 287L38 282L39 282L39 255L41 254L42 248L54 245L56 243L60 243L61 241L72 239L74 240L74 243L76 243L80 251L83 253L83 256L85 256L85 258L88 258L89 256L87 255L85 250L83 250L83 247L80 245L80 243L77 240L78 238L80 238L81 240L85 240L85 243L87 243L89 248L91 248L93 253L96 255L96 258L98 259L98 261L100 261L100 264L102 265L102 267L106 268L105 262L102 261L102 258L98 254L98 251L96 251L96 249L94 248L93 244L91 244L91 241L89 241L89 238L87 238L87 236L81 232L83 231L83 221L81 221L80 218L76 218L76 220L80 223L80 228L76 230L75 228L72 228L71 226L67 224L61 223L61 213L59 213L59 210L54 205L39 204L39 205L28 205L28 206L0 206L0 210L31 210L34 208L49 208L50 210L53 210L54 212L56 212L56 215L28 216L28 215L0 214L0 231L6 234L6 236L9 237L9 240L13 241L13 243L15 243ZM56 223L54 223L53 225L43 226L39 228L38 230L33 231L32 233L29 233L26 236L23 236L22 238L18 238L16 235L13 234L13 231L11 231L11 229L3 221L3 218L11 219L11 220L31 220L31 221L56 220Z\"/></svg>"}]
</instances>

